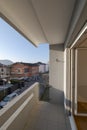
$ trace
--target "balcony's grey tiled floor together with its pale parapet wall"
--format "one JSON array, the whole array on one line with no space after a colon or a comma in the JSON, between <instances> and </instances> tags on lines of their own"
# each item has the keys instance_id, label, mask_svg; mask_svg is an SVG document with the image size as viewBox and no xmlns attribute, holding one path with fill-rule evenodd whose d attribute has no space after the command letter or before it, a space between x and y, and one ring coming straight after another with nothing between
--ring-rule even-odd
<instances>
[{"instance_id":1,"label":"balcony's grey tiled floor together with its pale parapet wall","mask_svg":"<svg viewBox=\"0 0 87 130\"><path fill-rule=\"evenodd\" d=\"M49 102L39 101L35 83L0 110L1 130L70 130L63 92L50 88Z\"/></svg>"}]
</instances>

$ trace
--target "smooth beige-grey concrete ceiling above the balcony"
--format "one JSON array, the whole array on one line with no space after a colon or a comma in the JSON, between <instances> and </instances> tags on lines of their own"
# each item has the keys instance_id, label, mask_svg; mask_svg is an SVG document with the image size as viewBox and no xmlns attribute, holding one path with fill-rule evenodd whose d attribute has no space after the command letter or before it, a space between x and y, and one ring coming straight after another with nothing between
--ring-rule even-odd
<instances>
[{"instance_id":1,"label":"smooth beige-grey concrete ceiling above the balcony","mask_svg":"<svg viewBox=\"0 0 87 130\"><path fill-rule=\"evenodd\" d=\"M63 44L76 0L0 0L0 14L36 46Z\"/></svg>"}]
</instances>

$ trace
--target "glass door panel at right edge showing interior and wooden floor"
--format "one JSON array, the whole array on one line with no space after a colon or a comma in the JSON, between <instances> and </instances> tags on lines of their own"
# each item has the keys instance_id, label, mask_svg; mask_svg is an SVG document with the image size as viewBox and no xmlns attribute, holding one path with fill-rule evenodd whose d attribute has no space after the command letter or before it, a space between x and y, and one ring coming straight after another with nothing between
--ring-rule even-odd
<instances>
[{"instance_id":1,"label":"glass door panel at right edge showing interior and wooden floor","mask_svg":"<svg viewBox=\"0 0 87 130\"><path fill-rule=\"evenodd\" d=\"M77 113L87 114L87 49L77 50Z\"/></svg>"}]
</instances>

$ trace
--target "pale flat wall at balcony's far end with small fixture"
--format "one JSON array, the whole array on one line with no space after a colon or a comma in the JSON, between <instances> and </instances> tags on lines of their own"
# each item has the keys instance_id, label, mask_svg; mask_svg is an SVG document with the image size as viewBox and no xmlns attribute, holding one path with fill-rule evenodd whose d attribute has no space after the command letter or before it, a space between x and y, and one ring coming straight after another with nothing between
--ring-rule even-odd
<instances>
[{"instance_id":1,"label":"pale flat wall at balcony's far end with small fixture","mask_svg":"<svg viewBox=\"0 0 87 130\"><path fill-rule=\"evenodd\" d=\"M49 84L64 91L64 51L63 45L50 45Z\"/></svg>"}]
</instances>

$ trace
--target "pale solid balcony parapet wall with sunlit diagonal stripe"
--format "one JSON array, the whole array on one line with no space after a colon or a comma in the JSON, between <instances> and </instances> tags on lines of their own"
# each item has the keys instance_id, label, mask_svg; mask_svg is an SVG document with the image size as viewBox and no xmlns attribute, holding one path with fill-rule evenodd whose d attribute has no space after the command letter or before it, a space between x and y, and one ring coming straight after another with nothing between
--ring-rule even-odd
<instances>
[{"instance_id":1,"label":"pale solid balcony parapet wall with sunlit diagonal stripe","mask_svg":"<svg viewBox=\"0 0 87 130\"><path fill-rule=\"evenodd\" d=\"M39 83L35 83L0 110L0 130L22 130L38 101Z\"/></svg>"}]
</instances>

